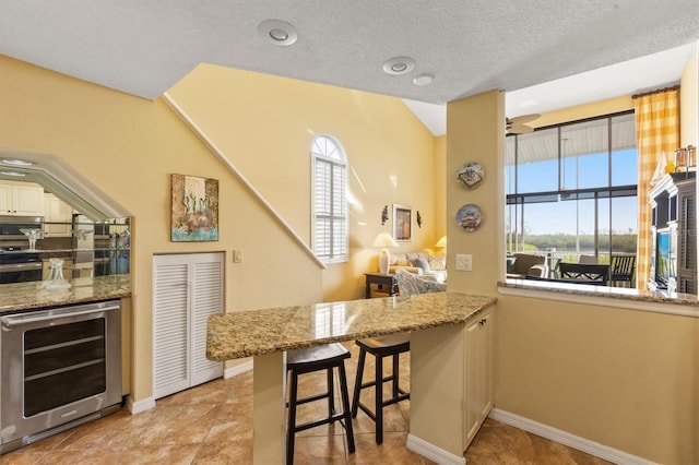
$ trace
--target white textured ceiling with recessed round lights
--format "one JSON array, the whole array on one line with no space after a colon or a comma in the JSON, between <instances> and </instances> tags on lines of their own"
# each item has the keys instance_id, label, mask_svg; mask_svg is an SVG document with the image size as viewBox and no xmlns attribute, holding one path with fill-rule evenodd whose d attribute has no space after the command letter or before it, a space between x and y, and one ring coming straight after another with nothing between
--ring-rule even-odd
<instances>
[{"instance_id":1,"label":"white textured ceiling with recessed round lights","mask_svg":"<svg viewBox=\"0 0 699 465\"><path fill-rule=\"evenodd\" d=\"M697 0L0 0L0 53L154 99L201 62L442 105L696 43ZM298 40L272 45L269 19ZM382 71L415 59L405 75ZM435 76L428 85L413 78ZM663 83L659 83L663 84ZM516 116L516 115L510 115Z\"/></svg>"}]
</instances>

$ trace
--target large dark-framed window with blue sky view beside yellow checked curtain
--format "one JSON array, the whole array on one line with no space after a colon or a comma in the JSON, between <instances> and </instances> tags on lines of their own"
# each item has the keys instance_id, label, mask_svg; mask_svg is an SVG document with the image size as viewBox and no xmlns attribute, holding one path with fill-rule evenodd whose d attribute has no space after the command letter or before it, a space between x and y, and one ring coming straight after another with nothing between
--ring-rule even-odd
<instances>
[{"instance_id":1,"label":"large dark-framed window with blue sky view beside yellow checked curtain","mask_svg":"<svg viewBox=\"0 0 699 465\"><path fill-rule=\"evenodd\" d=\"M633 112L510 135L506 147L508 251L601 263L636 253Z\"/></svg>"}]
</instances>

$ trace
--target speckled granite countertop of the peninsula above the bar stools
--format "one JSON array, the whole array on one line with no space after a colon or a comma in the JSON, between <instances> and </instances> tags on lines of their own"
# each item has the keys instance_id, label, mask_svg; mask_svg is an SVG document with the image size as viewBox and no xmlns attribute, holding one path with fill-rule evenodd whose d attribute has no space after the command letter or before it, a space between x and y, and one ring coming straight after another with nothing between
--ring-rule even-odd
<instances>
[{"instance_id":1,"label":"speckled granite countertop of the peninsula above the bar stools","mask_svg":"<svg viewBox=\"0 0 699 465\"><path fill-rule=\"evenodd\" d=\"M446 291L209 317L206 357L229 360L463 323L497 299Z\"/></svg>"}]
</instances>

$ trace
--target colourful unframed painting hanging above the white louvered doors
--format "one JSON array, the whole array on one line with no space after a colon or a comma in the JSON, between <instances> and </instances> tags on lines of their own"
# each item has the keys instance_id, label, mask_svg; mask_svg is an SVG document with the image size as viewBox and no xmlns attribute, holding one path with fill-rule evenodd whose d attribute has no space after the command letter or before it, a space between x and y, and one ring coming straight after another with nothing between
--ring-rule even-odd
<instances>
[{"instance_id":1,"label":"colourful unframed painting hanging above the white louvered doors","mask_svg":"<svg viewBox=\"0 0 699 465\"><path fill-rule=\"evenodd\" d=\"M218 240L218 180L173 175L173 242Z\"/></svg>"}]
</instances>

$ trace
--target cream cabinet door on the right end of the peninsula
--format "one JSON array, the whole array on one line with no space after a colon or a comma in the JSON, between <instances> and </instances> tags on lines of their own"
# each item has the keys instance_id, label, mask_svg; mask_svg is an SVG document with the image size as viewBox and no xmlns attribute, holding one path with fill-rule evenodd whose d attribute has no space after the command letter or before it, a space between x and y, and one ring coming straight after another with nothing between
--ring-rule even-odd
<instances>
[{"instance_id":1,"label":"cream cabinet door on the right end of the peninsula","mask_svg":"<svg viewBox=\"0 0 699 465\"><path fill-rule=\"evenodd\" d=\"M495 313L486 310L466 325L465 336L465 448L493 408L493 343Z\"/></svg>"}]
</instances>

